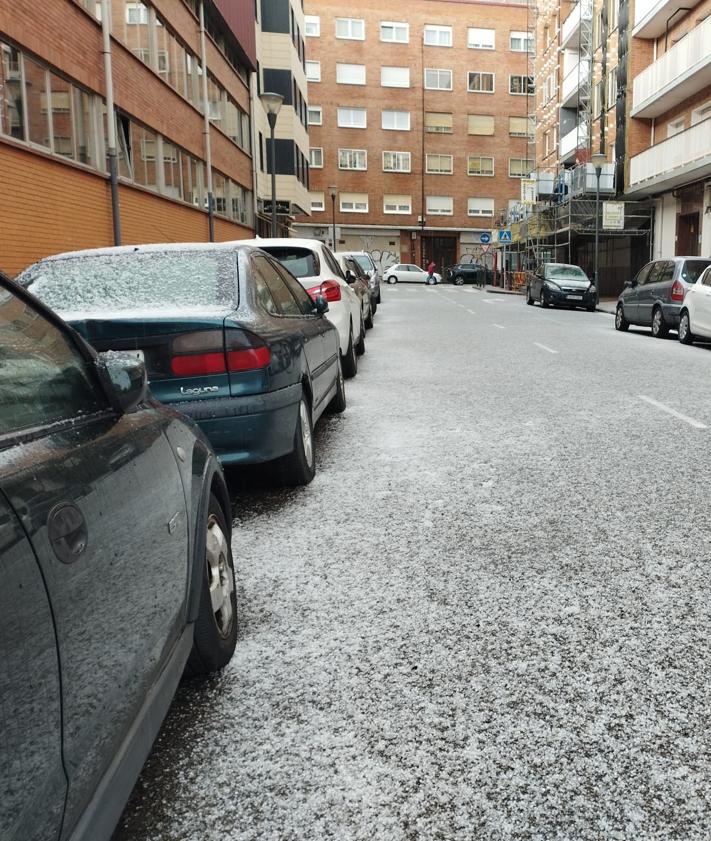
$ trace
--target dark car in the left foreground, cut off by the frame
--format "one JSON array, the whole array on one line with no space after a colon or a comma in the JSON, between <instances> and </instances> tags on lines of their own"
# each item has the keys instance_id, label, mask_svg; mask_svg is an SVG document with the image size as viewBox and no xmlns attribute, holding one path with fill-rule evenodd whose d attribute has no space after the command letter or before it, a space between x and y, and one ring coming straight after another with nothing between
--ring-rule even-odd
<instances>
[{"instance_id":1,"label":"dark car in the left foreground, cut off by the frame","mask_svg":"<svg viewBox=\"0 0 711 841\"><path fill-rule=\"evenodd\" d=\"M0 277L0 836L107 841L184 671L237 638L230 502L143 363Z\"/></svg>"}]
</instances>

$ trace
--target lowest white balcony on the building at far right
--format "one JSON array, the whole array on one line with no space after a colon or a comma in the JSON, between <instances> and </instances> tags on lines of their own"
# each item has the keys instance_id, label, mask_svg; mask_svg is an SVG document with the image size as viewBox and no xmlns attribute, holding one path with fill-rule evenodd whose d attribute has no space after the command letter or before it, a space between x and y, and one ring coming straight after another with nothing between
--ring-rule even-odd
<instances>
[{"instance_id":1,"label":"lowest white balcony on the building at far right","mask_svg":"<svg viewBox=\"0 0 711 841\"><path fill-rule=\"evenodd\" d=\"M711 117L630 161L627 193L659 193L711 175Z\"/></svg>"}]
</instances>

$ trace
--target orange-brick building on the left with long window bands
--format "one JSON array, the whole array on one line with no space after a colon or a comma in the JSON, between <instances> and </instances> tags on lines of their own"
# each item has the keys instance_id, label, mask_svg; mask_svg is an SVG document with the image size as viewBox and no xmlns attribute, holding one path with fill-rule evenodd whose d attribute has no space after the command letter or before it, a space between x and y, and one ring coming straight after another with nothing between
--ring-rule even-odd
<instances>
[{"instance_id":1,"label":"orange-brick building on the left with long window bands","mask_svg":"<svg viewBox=\"0 0 711 841\"><path fill-rule=\"evenodd\" d=\"M200 0L112 0L111 15L122 242L207 240L210 182L215 239L251 236L252 0L205 0L204 54ZM11 275L114 242L100 18L98 0L0 0L0 268Z\"/></svg>"}]
</instances>

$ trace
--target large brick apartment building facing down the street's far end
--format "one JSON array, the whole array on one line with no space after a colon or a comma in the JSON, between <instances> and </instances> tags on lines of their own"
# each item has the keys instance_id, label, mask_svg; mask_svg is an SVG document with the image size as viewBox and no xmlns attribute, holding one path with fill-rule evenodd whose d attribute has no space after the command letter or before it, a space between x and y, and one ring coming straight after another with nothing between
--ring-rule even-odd
<instances>
[{"instance_id":1,"label":"large brick apartment building facing down the street's far end","mask_svg":"<svg viewBox=\"0 0 711 841\"><path fill-rule=\"evenodd\" d=\"M440 267L481 256L533 166L525 3L305 12L311 218L297 234L330 241L335 216L340 249Z\"/></svg>"}]
</instances>

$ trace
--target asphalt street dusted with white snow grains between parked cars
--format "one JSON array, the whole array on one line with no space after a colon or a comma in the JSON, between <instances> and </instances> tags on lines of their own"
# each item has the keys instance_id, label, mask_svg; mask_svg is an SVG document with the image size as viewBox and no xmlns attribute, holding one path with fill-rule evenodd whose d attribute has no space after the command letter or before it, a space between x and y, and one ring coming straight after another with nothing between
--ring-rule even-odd
<instances>
[{"instance_id":1,"label":"asphalt street dusted with white snow grains between parked cars","mask_svg":"<svg viewBox=\"0 0 711 841\"><path fill-rule=\"evenodd\" d=\"M711 352L383 297L313 484L235 485L237 653L115 841L708 839Z\"/></svg>"}]
</instances>

